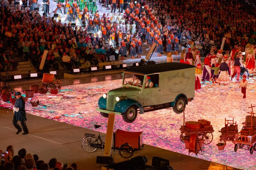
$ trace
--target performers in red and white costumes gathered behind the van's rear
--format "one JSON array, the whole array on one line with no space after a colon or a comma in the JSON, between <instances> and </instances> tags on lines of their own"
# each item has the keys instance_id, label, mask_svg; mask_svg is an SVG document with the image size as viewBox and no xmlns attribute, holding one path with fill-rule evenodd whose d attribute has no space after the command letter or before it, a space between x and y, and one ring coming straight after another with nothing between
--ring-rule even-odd
<instances>
[{"instance_id":1,"label":"performers in red and white costumes gathered behind the van's rear","mask_svg":"<svg viewBox=\"0 0 256 170\"><path fill-rule=\"evenodd\" d=\"M256 62L254 61L256 48L254 45L247 44L245 49L245 55L242 54L240 47L234 46L232 51L229 50L217 50L216 47L213 47L210 53L207 54L207 57L204 59L203 70L201 70L201 61L199 52L196 51L196 48L189 48L189 51L181 53L180 62L194 64L195 69L195 90L201 88L201 79L203 82L212 81L212 83L227 83L233 80L236 77L236 80L239 81L241 68L243 69L245 60L245 67L247 69L255 69ZM197 62L199 59L200 62ZM234 72L231 74L231 67L233 67ZM202 78L201 78L202 74ZM246 98L246 86L248 83L245 79L247 77L243 75L243 79L240 82L240 87L242 88L241 92L244 94L243 98ZM211 80L210 80L211 79Z\"/></svg>"}]
</instances>

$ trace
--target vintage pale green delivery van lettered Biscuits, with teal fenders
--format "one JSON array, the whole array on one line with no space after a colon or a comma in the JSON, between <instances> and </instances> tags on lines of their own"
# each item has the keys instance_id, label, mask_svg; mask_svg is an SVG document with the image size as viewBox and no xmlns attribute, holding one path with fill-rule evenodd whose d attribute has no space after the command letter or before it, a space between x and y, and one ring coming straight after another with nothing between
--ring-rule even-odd
<instances>
[{"instance_id":1,"label":"vintage pale green delivery van lettered Biscuits, with teal fenders","mask_svg":"<svg viewBox=\"0 0 256 170\"><path fill-rule=\"evenodd\" d=\"M153 88L145 88L147 76ZM132 85L135 79L141 83ZM138 82L138 80L136 80ZM182 113L195 96L195 67L184 63L160 63L128 68L124 71L122 87L110 90L99 99L97 111L103 117L108 113L122 115L131 123L137 113L173 108Z\"/></svg>"}]
</instances>

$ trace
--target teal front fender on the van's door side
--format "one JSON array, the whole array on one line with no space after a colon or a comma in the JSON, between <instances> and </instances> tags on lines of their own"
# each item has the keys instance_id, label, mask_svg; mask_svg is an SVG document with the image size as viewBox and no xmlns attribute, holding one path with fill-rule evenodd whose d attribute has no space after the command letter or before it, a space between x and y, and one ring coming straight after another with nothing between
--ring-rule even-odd
<instances>
[{"instance_id":1,"label":"teal front fender on the van's door side","mask_svg":"<svg viewBox=\"0 0 256 170\"><path fill-rule=\"evenodd\" d=\"M135 105L135 106L137 106L137 108L139 108L140 114L144 113L143 106L138 101L133 100L133 99L125 99L125 100L121 100L121 101L117 102L114 110L117 112L120 112L120 113L124 113L132 105Z\"/></svg>"}]
</instances>

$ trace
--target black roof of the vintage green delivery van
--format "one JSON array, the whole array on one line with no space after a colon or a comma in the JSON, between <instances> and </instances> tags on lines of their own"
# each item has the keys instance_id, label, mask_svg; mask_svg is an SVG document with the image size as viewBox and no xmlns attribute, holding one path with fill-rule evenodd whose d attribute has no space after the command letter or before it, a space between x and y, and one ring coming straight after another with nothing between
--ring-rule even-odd
<instances>
[{"instance_id":1,"label":"black roof of the vintage green delivery van","mask_svg":"<svg viewBox=\"0 0 256 170\"><path fill-rule=\"evenodd\" d=\"M140 73L140 74L152 74L158 72L172 71L172 70L181 70L193 68L190 64L184 64L179 62L167 62L160 64L149 64L144 66L136 66L126 69L126 72Z\"/></svg>"}]
</instances>

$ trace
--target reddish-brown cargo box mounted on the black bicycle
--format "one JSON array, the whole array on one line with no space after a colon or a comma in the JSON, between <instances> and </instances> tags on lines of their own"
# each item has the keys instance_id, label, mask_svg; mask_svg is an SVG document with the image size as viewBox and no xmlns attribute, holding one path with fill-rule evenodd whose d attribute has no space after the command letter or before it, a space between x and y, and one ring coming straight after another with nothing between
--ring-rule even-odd
<instances>
[{"instance_id":1,"label":"reddish-brown cargo box mounted on the black bicycle","mask_svg":"<svg viewBox=\"0 0 256 170\"><path fill-rule=\"evenodd\" d=\"M139 149L142 145L143 132L128 132L117 129L115 131L115 147L128 143L132 148Z\"/></svg>"}]
</instances>

